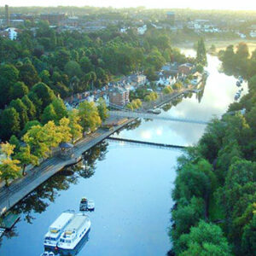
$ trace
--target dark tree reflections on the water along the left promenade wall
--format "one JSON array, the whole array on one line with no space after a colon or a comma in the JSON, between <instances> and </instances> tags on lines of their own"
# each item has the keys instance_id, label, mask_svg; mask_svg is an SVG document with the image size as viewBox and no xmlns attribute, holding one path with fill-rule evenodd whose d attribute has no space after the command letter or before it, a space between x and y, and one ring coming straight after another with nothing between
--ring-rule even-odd
<instances>
[{"instance_id":1,"label":"dark tree reflections on the water along the left promenade wall","mask_svg":"<svg viewBox=\"0 0 256 256\"><path fill-rule=\"evenodd\" d=\"M55 174L18 203L13 211L22 213L24 220L32 224L34 213L42 213L59 196L59 192L79 183L79 177L89 178L95 173L96 160L104 160L108 152L108 143L104 142L84 153L84 158L77 165L67 167ZM82 168L86 163L86 168Z\"/></svg>"}]
</instances>

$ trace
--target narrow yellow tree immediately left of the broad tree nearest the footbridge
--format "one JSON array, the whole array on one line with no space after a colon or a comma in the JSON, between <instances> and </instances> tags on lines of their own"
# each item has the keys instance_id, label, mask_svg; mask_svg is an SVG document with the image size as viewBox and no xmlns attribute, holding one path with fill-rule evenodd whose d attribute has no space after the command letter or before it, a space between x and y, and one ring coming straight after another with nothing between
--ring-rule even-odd
<instances>
[{"instance_id":1,"label":"narrow yellow tree immediately left of the broad tree nearest the footbridge","mask_svg":"<svg viewBox=\"0 0 256 256\"><path fill-rule=\"evenodd\" d=\"M70 133L72 136L72 142L74 143L75 140L78 138L82 137L82 131L83 127L79 125L80 122L80 117L79 117L79 112L77 109L72 109L71 111L68 112L68 119L69 119L69 128L70 128Z\"/></svg>"}]
</instances>

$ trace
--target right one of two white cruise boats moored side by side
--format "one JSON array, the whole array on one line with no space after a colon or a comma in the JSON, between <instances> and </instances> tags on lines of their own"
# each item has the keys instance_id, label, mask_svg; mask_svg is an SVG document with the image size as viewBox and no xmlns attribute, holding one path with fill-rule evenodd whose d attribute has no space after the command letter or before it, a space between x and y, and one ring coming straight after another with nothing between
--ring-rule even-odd
<instances>
[{"instance_id":1,"label":"right one of two white cruise boats moored side by side","mask_svg":"<svg viewBox=\"0 0 256 256\"><path fill-rule=\"evenodd\" d=\"M83 239L85 234L90 230L90 218L83 213L78 213L72 222L67 225L61 234L61 239L57 244L60 249L72 250Z\"/></svg>"}]
</instances>

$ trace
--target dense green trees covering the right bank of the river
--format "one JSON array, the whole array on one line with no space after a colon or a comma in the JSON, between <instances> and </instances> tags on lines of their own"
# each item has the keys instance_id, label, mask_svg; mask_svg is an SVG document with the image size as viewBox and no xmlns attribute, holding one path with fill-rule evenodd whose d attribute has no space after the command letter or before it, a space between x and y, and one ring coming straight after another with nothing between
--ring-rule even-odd
<instances>
[{"instance_id":1,"label":"dense green trees covering the right bank of the river","mask_svg":"<svg viewBox=\"0 0 256 256\"><path fill-rule=\"evenodd\" d=\"M253 65L254 55L246 44L236 53L229 46L224 70L245 75L242 65ZM256 70L247 78L249 93L178 160L170 230L176 255L255 255Z\"/></svg>"}]
</instances>

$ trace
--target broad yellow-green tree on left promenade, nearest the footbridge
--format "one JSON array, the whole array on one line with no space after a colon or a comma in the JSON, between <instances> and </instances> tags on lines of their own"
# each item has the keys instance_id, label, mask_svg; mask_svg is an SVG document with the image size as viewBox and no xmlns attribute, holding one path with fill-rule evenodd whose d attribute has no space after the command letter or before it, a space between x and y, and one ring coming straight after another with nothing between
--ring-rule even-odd
<instances>
[{"instance_id":1,"label":"broad yellow-green tree on left promenade, nearest the footbridge","mask_svg":"<svg viewBox=\"0 0 256 256\"><path fill-rule=\"evenodd\" d=\"M80 125L84 131L95 131L102 120L94 102L81 102L79 104Z\"/></svg>"}]
</instances>

